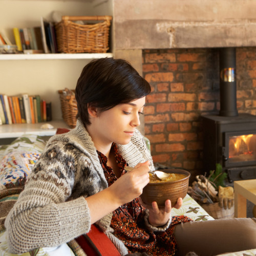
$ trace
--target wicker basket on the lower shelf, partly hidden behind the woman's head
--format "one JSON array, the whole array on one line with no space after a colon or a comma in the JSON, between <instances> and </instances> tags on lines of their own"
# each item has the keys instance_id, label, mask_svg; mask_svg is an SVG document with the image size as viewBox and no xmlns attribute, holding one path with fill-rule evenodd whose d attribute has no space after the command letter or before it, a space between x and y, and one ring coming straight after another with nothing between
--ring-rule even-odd
<instances>
[{"instance_id":1,"label":"wicker basket on the lower shelf, partly hidden behind the woman's head","mask_svg":"<svg viewBox=\"0 0 256 256\"><path fill-rule=\"evenodd\" d=\"M58 91L63 120L71 127L76 126L77 102L75 92L69 89Z\"/></svg>"}]
</instances>

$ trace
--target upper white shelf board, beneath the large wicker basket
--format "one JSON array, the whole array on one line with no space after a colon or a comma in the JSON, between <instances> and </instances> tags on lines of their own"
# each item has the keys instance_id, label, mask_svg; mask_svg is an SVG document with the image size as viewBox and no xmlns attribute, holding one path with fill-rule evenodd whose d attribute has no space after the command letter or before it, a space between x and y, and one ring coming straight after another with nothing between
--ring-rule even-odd
<instances>
[{"instance_id":1,"label":"upper white shelf board, beneath the large wicker basket","mask_svg":"<svg viewBox=\"0 0 256 256\"><path fill-rule=\"evenodd\" d=\"M112 53L0 54L0 60L98 59L112 56Z\"/></svg>"}]
</instances>

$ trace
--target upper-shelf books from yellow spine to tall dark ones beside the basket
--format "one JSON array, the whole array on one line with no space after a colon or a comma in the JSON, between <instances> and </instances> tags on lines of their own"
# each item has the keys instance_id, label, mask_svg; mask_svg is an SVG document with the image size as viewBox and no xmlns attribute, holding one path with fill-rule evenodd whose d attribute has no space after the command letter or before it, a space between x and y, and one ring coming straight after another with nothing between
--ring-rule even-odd
<instances>
[{"instance_id":1,"label":"upper-shelf books from yellow spine to tall dark ones beside the basket","mask_svg":"<svg viewBox=\"0 0 256 256\"><path fill-rule=\"evenodd\" d=\"M41 17L40 27L13 28L17 50L24 53L57 53L54 24Z\"/></svg>"}]
</instances>

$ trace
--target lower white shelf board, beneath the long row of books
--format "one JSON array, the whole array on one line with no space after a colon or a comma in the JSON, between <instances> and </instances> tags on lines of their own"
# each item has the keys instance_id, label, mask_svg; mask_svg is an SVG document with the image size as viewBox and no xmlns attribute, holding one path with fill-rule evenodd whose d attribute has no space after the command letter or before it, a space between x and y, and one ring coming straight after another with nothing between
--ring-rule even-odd
<instances>
[{"instance_id":1,"label":"lower white shelf board, beneath the long row of books","mask_svg":"<svg viewBox=\"0 0 256 256\"><path fill-rule=\"evenodd\" d=\"M50 123L53 129L40 129L42 124ZM39 136L53 136L57 128L71 129L63 120L54 120L41 123L15 123L0 125L0 139L17 138L23 134L35 134Z\"/></svg>"}]
</instances>

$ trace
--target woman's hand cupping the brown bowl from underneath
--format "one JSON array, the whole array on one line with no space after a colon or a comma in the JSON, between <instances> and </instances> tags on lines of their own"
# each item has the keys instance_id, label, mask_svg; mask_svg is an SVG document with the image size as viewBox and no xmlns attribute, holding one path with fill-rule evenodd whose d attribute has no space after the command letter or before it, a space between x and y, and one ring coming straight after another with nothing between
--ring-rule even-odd
<instances>
[{"instance_id":1,"label":"woman's hand cupping the brown bowl from underneath","mask_svg":"<svg viewBox=\"0 0 256 256\"><path fill-rule=\"evenodd\" d=\"M172 204L170 200L165 201L165 207L158 207L157 202L152 202L152 206L145 205L141 198L139 198L140 204L150 210L150 216L148 216L148 221L152 226L158 227L166 224L170 218L170 211L172 210ZM178 198L174 208L179 209L182 206L182 198Z\"/></svg>"}]
</instances>

